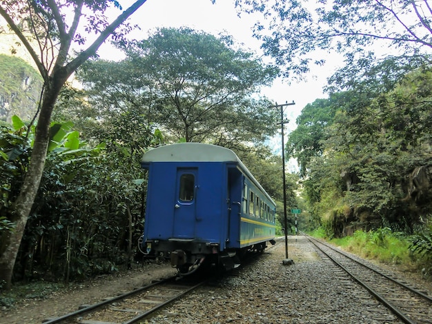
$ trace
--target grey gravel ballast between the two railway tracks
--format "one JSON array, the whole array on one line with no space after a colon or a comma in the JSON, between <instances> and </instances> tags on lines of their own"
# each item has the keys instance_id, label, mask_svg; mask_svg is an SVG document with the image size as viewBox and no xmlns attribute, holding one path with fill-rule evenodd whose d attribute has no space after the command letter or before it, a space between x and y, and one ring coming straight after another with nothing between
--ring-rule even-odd
<instances>
[{"instance_id":1,"label":"grey gravel ballast between the two railway tracks","mask_svg":"<svg viewBox=\"0 0 432 324\"><path fill-rule=\"evenodd\" d=\"M271 247L236 276L203 287L146 323L400 323L304 236Z\"/></svg>"}]
</instances>

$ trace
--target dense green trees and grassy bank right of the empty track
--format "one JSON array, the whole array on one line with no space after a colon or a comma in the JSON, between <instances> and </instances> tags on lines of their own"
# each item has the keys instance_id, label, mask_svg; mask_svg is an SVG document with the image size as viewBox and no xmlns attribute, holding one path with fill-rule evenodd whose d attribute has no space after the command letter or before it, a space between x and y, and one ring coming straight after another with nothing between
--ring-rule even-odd
<instances>
[{"instance_id":1,"label":"dense green trees and grassy bank right of the empty track","mask_svg":"<svg viewBox=\"0 0 432 324\"><path fill-rule=\"evenodd\" d=\"M360 75L336 72L328 99L302 110L287 150L301 166L309 221L326 237L370 231L360 241L388 251L376 256L419 257L431 276L432 70L418 59L378 61ZM384 244L390 240L403 248Z\"/></svg>"}]
</instances>

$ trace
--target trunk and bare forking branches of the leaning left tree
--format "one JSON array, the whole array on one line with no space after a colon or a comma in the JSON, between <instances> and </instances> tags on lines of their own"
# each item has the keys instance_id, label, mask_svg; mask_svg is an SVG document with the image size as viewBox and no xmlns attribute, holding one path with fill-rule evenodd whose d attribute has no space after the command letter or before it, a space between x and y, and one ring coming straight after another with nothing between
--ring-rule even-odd
<instances>
[{"instance_id":1,"label":"trunk and bare forking branches of the leaning left tree","mask_svg":"<svg viewBox=\"0 0 432 324\"><path fill-rule=\"evenodd\" d=\"M72 3L73 2L74 1L72 1ZM75 18L72 22L72 25L70 26L70 30L67 31L67 26L63 21L61 12L59 12L59 7L57 7L56 1L48 1L53 14L53 17L50 16L49 19L50 22L57 24L57 37L59 37L60 41L57 59L54 60L56 63L52 69L50 77L48 77L48 73L50 71L50 64L48 64L47 66L43 65L43 63L47 62L41 61L41 59L37 56L35 49L32 48L32 45L22 32L21 28L19 28L19 26L14 22L14 19L12 19L15 14L12 14L11 16L8 8L3 8L3 4L0 4L1 17L6 20L10 28L12 28L13 32L17 34L23 45L27 48L31 57L35 60L39 72L41 72L41 75L45 81L44 85L46 88L46 92L43 95L41 111L39 114L39 121L36 127L35 144L33 145L30 165L26 174L26 178L24 179L21 192L19 193L17 201L15 201L14 203L14 210L12 212L12 216L10 217L10 221L15 222L17 227L15 227L14 232L6 234L6 237L4 237L4 239L2 238L1 242L3 244L3 247L5 248L4 250L0 251L0 285L2 282L4 282L6 283L5 287L8 289L10 289L10 287L12 286L12 272L15 264L15 259L17 258L19 245L21 244L21 239L26 228L28 215L30 214L33 202L35 201L37 190L39 189L39 183L41 182L43 167L45 165L45 159L49 144L51 113L52 109L54 108L55 101L57 100L57 97L59 95L59 92L68 77L70 77L70 74L77 70L77 68L79 68L79 66L81 66L81 64L84 63L89 57L94 55L99 46L104 43L107 37L112 34L112 32L114 32L117 27L124 23L124 21L128 19L128 17L130 17L132 13L134 13L139 7L141 7L143 3L146 2L146 0L136 0L135 3L132 3L132 5L128 9L121 12L121 14L114 21L112 21L112 23L106 26L105 30L100 32L97 39L87 48L87 50L82 51L77 57L75 57L75 59L64 65L67 61L66 59L69 54L70 45L77 32L79 19L81 17L81 10L84 6L84 1L82 0L75 2L77 4L77 6L75 7ZM95 11L99 10L95 6L92 6L91 8ZM47 13L48 12L43 12L43 14ZM50 34L52 30L51 28L48 29L48 34L46 34L46 38L52 41L52 39L50 39L50 37L53 36L52 34ZM55 28L53 30L55 30ZM45 41L47 39L45 39ZM40 41L42 43L39 43L39 47L45 48L46 43L43 43L44 40L40 39ZM50 43L50 41L48 41L48 43ZM54 41L54 43L57 43L57 41ZM50 44L52 45L52 43ZM50 50L52 50L52 48ZM48 52L50 50L48 50ZM53 63L54 61L50 63Z\"/></svg>"}]
</instances>

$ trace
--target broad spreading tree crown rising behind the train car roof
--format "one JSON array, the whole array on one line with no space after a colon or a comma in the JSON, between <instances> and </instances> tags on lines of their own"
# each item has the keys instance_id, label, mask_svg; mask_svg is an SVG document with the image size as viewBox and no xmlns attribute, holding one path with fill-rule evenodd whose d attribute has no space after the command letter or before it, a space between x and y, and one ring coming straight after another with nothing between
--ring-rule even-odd
<instances>
[{"instance_id":1,"label":"broad spreading tree crown rising behind the train car roof","mask_svg":"<svg viewBox=\"0 0 432 324\"><path fill-rule=\"evenodd\" d=\"M226 147L275 133L277 114L259 90L278 70L229 37L160 28L123 49L124 61L88 63L79 74L106 116L135 111L175 140Z\"/></svg>"}]
</instances>

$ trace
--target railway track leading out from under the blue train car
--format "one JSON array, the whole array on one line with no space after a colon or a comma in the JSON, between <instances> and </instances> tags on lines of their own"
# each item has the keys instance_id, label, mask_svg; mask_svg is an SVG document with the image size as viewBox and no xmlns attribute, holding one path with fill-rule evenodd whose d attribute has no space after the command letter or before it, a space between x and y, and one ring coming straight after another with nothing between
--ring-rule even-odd
<instances>
[{"instance_id":1,"label":"railway track leading out from under the blue train car","mask_svg":"<svg viewBox=\"0 0 432 324\"><path fill-rule=\"evenodd\" d=\"M151 316L157 310L173 303L173 301L197 289L207 281L208 279L203 281L178 280L177 276L161 279L125 294L107 298L100 303L86 305L76 312L56 318L48 318L43 323L138 323L143 318Z\"/></svg>"}]
</instances>

